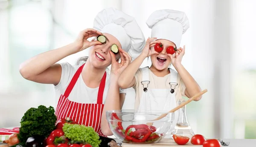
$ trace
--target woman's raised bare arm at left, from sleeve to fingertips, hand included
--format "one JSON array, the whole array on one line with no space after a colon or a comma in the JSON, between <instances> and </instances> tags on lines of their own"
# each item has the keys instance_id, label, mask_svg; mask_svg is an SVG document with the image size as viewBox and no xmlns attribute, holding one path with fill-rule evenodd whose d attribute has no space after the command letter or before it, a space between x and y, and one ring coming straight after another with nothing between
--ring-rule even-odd
<instances>
[{"instance_id":1,"label":"woman's raised bare arm at left, from sleeve to fingertips, hand included","mask_svg":"<svg viewBox=\"0 0 256 147\"><path fill-rule=\"evenodd\" d=\"M57 85L61 79L61 65L55 63L92 45L101 44L99 41L89 42L87 40L89 37L100 34L102 33L94 29L85 29L79 33L75 42L44 52L23 62L20 65L20 74L25 79L34 82Z\"/></svg>"}]
</instances>

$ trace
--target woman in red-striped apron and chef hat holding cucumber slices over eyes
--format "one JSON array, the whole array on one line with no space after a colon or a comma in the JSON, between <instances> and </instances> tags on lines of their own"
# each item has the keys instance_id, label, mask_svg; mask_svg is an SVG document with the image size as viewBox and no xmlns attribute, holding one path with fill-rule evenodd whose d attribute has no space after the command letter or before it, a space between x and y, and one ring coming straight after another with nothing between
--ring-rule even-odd
<instances>
[{"instance_id":1,"label":"woman in red-striped apron and chef hat holding cucumber slices over eyes","mask_svg":"<svg viewBox=\"0 0 256 147\"><path fill-rule=\"evenodd\" d=\"M22 63L20 74L34 82L55 85L58 102L55 114L58 120L69 117L79 124L93 127L99 135L104 136L109 133L102 134L100 126L104 102L108 99L111 101L112 89L119 90L119 74L131 62L130 55L136 58L143 49L145 38L133 17L114 8L99 12L93 27L95 29L81 31L75 42L44 52ZM97 40L96 37L101 35L104 35L102 37L106 39L105 42ZM95 38L88 41L90 37ZM114 44L118 46L117 54L111 51ZM64 57L87 48L90 49L89 57L85 58L83 65L76 67L69 63L55 64ZM120 57L121 63L118 63ZM111 63L109 74L106 69ZM116 94L118 100L122 99L123 103L124 90L112 94ZM106 122L105 119L102 120L102 124Z\"/></svg>"}]
</instances>

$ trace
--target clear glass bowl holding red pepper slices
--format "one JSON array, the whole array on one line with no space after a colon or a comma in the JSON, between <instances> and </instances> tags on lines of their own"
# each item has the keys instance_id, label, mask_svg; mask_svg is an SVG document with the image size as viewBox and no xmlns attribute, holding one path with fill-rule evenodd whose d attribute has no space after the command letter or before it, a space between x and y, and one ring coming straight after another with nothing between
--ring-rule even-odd
<instances>
[{"instance_id":1,"label":"clear glass bowl holding red pepper slices","mask_svg":"<svg viewBox=\"0 0 256 147\"><path fill-rule=\"evenodd\" d=\"M167 115L154 120L163 113ZM125 143L157 143L169 132L174 120L174 113L158 110L111 110L106 116L113 135Z\"/></svg>"}]
</instances>

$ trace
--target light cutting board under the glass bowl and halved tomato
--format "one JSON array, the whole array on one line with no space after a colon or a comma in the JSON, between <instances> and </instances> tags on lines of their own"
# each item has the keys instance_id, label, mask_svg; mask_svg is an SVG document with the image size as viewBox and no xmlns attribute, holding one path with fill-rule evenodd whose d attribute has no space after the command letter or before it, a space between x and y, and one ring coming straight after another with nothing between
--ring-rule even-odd
<instances>
[{"instance_id":1,"label":"light cutting board under the glass bowl and halved tomato","mask_svg":"<svg viewBox=\"0 0 256 147\"><path fill-rule=\"evenodd\" d=\"M154 144L130 144L130 143L122 143L122 147L203 147L202 145L193 145L190 141L185 145L178 145L172 139L162 139L158 143Z\"/></svg>"}]
</instances>

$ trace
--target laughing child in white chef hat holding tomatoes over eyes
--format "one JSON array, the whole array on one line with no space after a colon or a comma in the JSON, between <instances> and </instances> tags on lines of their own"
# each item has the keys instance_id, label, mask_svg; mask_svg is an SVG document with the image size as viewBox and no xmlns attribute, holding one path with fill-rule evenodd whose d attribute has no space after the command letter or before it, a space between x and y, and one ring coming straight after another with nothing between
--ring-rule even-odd
<instances>
[{"instance_id":1,"label":"laughing child in white chef hat holding tomatoes over eyes","mask_svg":"<svg viewBox=\"0 0 256 147\"><path fill-rule=\"evenodd\" d=\"M120 88L135 89L135 110L169 111L177 106L182 96L191 98L201 91L198 83L181 64L185 46L178 48L182 34L189 28L189 21L184 12L158 10L150 15L146 23L151 28L152 38L148 38L140 56L121 73L118 84ZM151 67L140 68L149 56ZM171 64L177 72L169 68ZM176 112L173 127L177 115Z\"/></svg>"}]
</instances>

